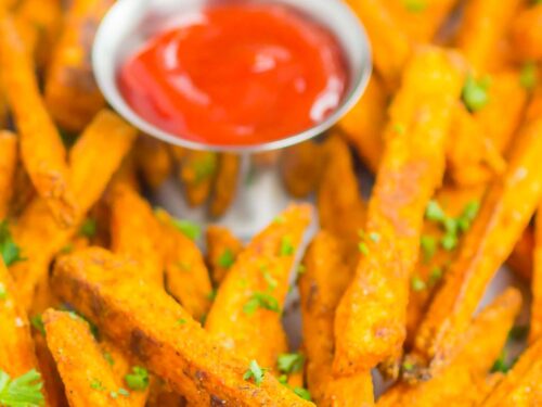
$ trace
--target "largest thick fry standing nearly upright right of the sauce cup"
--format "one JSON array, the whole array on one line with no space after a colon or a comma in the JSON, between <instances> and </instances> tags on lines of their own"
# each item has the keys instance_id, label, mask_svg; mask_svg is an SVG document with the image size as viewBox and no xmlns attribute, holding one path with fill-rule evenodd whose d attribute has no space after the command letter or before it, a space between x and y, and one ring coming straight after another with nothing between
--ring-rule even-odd
<instances>
[{"instance_id":1,"label":"largest thick fry standing nearly upright right of the sauce cup","mask_svg":"<svg viewBox=\"0 0 542 407\"><path fill-rule=\"evenodd\" d=\"M405 69L390 106L387 145L369 203L367 239L360 242L364 255L335 318L333 369L339 377L400 353L408 281L425 207L444 171L444 147L462 82L454 56L435 48L423 49Z\"/></svg>"}]
</instances>

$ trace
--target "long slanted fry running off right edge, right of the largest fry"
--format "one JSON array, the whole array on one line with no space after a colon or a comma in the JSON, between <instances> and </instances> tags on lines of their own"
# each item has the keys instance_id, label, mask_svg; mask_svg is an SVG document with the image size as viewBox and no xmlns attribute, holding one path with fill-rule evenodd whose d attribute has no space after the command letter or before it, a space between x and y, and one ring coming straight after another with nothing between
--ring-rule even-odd
<instances>
[{"instance_id":1,"label":"long slanted fry running off right edge, right of the largest fry","mask_svg":"<svg viewBox=\"0 0 542 407\"><path fill-rule=\"evenodd\" d=\"M534 213L542 196L541 133L542 119L525 126L506 173L491 185L416 334L415 355L422 364L438 366L446 359Z\"/></svg>"}]
</instances>

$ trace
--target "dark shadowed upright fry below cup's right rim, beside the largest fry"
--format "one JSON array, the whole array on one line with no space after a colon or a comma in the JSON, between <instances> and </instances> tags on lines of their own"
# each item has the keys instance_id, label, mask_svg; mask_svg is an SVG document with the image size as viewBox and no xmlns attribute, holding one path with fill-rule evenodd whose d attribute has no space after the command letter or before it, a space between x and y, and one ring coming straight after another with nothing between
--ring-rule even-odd
<instances>
[{"instance_id":1,"label":"dark shadowed upright fry below cup's right rim, beside the largest fry","mask_svg":"<svg viewBox=\"0 0 542 407\"><path fill-rule=\"evenodd\" d=\"M348 145L338 136L325 141L318 214L322 229L357 244L358 233L365 225L365 202L361 196Z\"/></svg>"}]
</instances>

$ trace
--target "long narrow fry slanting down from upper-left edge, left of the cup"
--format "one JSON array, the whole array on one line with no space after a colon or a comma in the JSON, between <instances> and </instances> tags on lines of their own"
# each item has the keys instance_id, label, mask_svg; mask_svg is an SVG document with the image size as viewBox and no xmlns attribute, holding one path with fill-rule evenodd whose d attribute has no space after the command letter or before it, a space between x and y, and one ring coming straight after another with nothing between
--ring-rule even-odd
<instances>
[{"instance_id":1,"label":"long narrow fry slanting down from upper-left edge, left of the cup","mask_svg":"<svg viewBox=\"0 0 542 407\"><path fill-rule=\"evenodd\" d=\"M27 50L7 14L0 16L0 72L28 175L55 219L62 226L73 225L78 209L69 185L66 150L39 94Z\"/></svg>"}]
</instances>

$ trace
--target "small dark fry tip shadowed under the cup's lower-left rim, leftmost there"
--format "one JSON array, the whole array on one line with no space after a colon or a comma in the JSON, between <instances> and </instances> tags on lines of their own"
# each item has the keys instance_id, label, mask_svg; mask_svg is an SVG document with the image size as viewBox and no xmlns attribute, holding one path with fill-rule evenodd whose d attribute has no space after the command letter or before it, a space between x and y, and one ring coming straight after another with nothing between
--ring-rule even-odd
<instances>
[{"instance_id":1,"label":"small dark fry tip shadowed under the cup's lower-left rim, leftmost there","mask_svg":"<svg viewBox=\"0 0 542 407\"><path fill-rule=\"evenodd\" d=\"M153 190L162 186L173 166L167 144L150 136L142 136L138 139L134 151L145 183Z\"/></svg>"}]
</instances>

